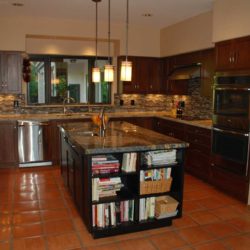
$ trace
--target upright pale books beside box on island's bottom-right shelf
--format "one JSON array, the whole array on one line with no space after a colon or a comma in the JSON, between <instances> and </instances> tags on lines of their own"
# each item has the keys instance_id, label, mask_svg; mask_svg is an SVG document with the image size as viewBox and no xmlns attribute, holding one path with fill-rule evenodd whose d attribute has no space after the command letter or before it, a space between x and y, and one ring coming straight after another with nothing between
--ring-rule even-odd
<instances>
[{"instance_id":1,"label":"upright pale books beside box on island's bottom-right shelf","mask_svg":"<svg viewBox=\"0 0 250 250\"><path fill-rule=\"evenodd\" d=\"M155 197L140 199L139 221L155 217Z\"/></svg>"}]
</instances>

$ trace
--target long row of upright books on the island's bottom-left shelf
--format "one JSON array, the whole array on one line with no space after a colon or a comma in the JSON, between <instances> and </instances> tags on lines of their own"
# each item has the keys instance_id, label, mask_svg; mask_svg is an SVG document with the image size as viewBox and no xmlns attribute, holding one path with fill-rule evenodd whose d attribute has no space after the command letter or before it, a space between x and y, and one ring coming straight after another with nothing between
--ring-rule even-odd
<instances>
[{"instance_id":1,"label":"long row of upright books on the island's bottom-left shelf","mask_svg":"<svg viewBox=\"0 0 250 250\"><path fill-rule=\"evenodd\" d=\"M134 200L92 205L93 227L105 228L129 221L134 221Z\"/></svg>"}]
</instances>

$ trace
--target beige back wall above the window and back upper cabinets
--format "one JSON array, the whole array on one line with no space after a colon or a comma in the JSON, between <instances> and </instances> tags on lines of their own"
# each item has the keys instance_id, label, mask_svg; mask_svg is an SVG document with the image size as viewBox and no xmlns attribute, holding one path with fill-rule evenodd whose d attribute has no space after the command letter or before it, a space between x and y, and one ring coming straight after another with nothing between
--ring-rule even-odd
<instances>
[{"instance_id":1,"label":"beige back wall above the window and back upper cabinets","mask_svg":"<svg viewBox=\"0 0 250 250\"><path fill-rule=\"evenodd\" d=\"M95 38L95 23L88 20L81 22L52 18L23 17L8 19L0 17L0 30L0 50L28 50L27 46L29 46L29 43L26 43L26 35ZM100 22L98 30L98 37L107 39L107 24ZM120 40L120 54L125 54L125 24L111 24L111 38ZM75 47L76 43L69 40L67 45ZM95 46L94 41L87 46L88 48L92 46L93 50ZM62 52L60 50L60 53ZM160 30L154 27L134 26L131 23L129 25L128 53L138 56L160 56Z\"/></svg>"}]
</instances>

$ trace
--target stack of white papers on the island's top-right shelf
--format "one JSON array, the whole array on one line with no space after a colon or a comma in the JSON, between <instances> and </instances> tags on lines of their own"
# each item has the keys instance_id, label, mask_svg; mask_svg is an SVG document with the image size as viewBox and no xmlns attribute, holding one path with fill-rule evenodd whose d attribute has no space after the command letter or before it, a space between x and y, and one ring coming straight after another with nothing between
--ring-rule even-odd
<instances>
[{"instance_id":1,"label":"stack of white papers on the island's top-right shelf","mask_svg":"<svg viewBox=\"0 0 250 250\"><path fill-rule=\"evenodd\" d=\"M147 166L175 164L176 149L148 151L143 154L143 163Z\"/></svg>"}]
</instances>

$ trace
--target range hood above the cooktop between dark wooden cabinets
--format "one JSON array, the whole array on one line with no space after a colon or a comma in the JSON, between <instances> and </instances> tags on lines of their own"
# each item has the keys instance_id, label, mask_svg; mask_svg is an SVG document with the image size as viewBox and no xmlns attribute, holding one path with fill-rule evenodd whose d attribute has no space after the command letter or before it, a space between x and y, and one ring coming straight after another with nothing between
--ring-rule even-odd
<instances>
[{"instance_id":1,"label":"range hood above the cooktop between dark wooden cabinets","mask_svg":"<svg viewBox=\"0 0 250 250\"><path fill-rule=\"evenodd\" d=\"M189 80L201 77L201 63L176 67L168 76L169 80Z\"/></svg>"}]
</instances>

